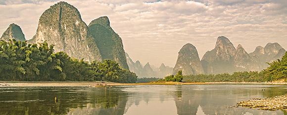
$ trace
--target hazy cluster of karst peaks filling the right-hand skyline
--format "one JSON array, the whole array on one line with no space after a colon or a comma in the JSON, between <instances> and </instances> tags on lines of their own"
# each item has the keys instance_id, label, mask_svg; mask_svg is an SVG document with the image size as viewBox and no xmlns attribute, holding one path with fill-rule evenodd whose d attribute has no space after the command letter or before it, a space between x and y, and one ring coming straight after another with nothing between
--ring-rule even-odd
<instances>
[{"instance_id":1,"label":"hazy cluster of karst peaks filling the right-hand skyline","mask_svg":"<svg viewBox=\"0 0 287 115\"><path fill-rule=\"evenodd\" d=\"M228 38L220 36L217 38L215 48L207 51L200 61L193 45L183 46L173 73L180 69L185 75L261 71L268 67L266 62L282 58L285 52L286 50L278 43L268 43L264 48L258 46L254 52L248 54L240 44L235 48Z\"/></svg>"}]
</instances>

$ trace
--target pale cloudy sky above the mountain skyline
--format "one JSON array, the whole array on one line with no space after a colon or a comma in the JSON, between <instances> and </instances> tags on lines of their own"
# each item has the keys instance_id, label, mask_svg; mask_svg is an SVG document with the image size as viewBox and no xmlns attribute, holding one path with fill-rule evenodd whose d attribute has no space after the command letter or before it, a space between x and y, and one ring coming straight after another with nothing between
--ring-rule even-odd
<instances>
[{"instance_id":1,"label":"pale cloudy sky above the mountain skyline","mask_svg":"<svg viewBox=\"0 0 287 115\"><path fill-rule=\"evenodd\" d=\"M31 39L41 14L59 0L0 0L0 34L18 24ZM278 42L287 49L287 0L65 0L88 25L108 16L130 57L174 67L191 43L202 58L225 36L248 52Z\"/></svg>"}]
</instances>

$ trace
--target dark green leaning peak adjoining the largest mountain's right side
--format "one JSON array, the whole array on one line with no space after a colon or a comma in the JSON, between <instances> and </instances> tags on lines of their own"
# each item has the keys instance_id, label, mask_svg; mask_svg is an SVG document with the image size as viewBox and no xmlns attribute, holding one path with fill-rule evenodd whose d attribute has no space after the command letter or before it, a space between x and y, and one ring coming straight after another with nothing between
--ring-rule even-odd
<instances>
[{"instance_id":1,"label":"dark green leaning peak adjoining the largest mountain's right side","mask_svg":"<svg viewBox=\"0 0 287 115\"><path fill-rule=\"evenodd\" d=\"M99 17L93 20L88 27L91 35L95 38L102 59L115 60L123 68L129 69L122 39L110 27L108 17Z\"/></svg>"}]
</instances>

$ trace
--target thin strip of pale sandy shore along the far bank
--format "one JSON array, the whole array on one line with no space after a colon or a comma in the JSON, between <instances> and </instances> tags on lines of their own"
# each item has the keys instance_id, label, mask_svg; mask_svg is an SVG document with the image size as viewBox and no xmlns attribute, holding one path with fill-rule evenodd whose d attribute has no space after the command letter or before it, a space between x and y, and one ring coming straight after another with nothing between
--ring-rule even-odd
<instances>
[{"instance_id":1,"label":"thin strip of pale sandy shore along the far bank","mask_svg":"<svg viewBox=\"0 0 287 115\"><path fill-rule=\"evenodd\" d=\"M95 85L95 82L79 82L79 81L6 81L10 86L0 87L63 87L63 86L91 86ZM157 82L157 83L114 83L107 82L112 86L124 86L124 85L175 85L177 82ZM287 83L256 83L256 82L196 82L196 83L183 83L183 85L193 84L270 84L270 85L287 85Z\"/></svg>"}]
</instances>

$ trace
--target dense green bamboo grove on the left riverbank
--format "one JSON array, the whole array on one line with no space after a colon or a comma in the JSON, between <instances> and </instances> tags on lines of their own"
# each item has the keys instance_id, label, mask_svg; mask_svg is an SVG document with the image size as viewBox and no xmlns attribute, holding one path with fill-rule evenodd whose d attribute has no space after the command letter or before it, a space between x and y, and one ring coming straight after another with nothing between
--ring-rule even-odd
<instances>
[{"instance_id":1,"label":"dense green bamboo grove on the left riverbank","mask_svg":"<svg viewBox=\"0 0 287 115\"><path fill-rule=\"evenodd\" d=\"M0 41L0 80L5 81L112 81L135 83L137 76L123 69L116 61L89 63L53 53L47 42L27 44L15 39Z\"/></svg>"}]
</instances>

